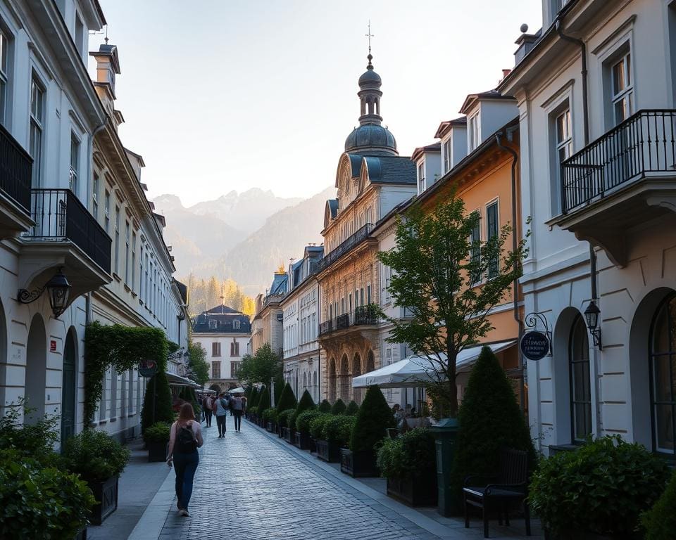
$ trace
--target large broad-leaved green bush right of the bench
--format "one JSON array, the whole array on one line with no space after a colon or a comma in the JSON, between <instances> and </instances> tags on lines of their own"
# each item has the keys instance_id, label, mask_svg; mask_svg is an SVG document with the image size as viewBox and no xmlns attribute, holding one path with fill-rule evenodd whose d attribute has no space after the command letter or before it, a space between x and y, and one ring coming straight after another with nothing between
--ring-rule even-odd
<instances>
[{"instance_id":1,"label":"large broad-leaved green bush right of the bench","mask_svg":"<svg viewBox=\"0 0 676 540\"><path fill-rule=\"evenodd\" d=\"M532 477L529 501L550 534L630 536L667 477L667 465L644 446L618 435L602 437L543 459Z\"/></svg>"}]
</instances>

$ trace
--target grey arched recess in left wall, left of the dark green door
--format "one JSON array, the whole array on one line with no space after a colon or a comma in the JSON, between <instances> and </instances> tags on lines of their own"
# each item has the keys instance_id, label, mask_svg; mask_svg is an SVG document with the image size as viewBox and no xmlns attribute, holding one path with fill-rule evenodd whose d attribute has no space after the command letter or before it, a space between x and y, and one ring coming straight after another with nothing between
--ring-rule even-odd
<instances>
[{"instance_id":1,"label":"grey arched recess in left wall, left of the dark green door","mask_svg":"<svg viewBox=\"0 0 676 540\"><path fill-rule=\"evenodd\" d=\"M44 387L47 369L47 338L42 316L30 321L26 345L25 398L32 412L25 418L32 424L44 416Z\"/></svg>"}]
</instances>

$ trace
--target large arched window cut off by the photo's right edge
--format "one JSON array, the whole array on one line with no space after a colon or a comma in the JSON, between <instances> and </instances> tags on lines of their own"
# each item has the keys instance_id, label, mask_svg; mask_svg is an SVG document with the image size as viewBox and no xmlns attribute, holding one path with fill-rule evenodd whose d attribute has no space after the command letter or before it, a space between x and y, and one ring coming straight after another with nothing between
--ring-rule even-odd
<instances>
[{"instance_id":1,"label":"large arched window cut off by the photo's right edge","mask_svg":"<svg viewBox=\"0 0 676 540\"><path fill-rule=\"evenodd\" d=\"M651 330L650 400L653 450L676 454L676 295L657 310Z\"/></svg>"}]
</instances>

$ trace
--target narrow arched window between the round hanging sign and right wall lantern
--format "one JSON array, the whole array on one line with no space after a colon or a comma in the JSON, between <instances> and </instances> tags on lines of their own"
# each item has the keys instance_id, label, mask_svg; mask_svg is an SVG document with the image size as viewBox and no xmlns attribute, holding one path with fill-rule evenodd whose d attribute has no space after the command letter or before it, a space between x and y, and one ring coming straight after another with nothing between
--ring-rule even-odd
<instances>
[{"instance_id":1,"label":"narrow arched window between the round hanging sign and right wall lantern","mask_svg":"<svg viewBox=\"0 0 676 540\"><path fill-rule=\"evenodd\" d=\"M584 442L592 432L592 388L589 377L589 337L582 315L570 330L570 428L573 442Z\"/></svg>"}]
</instances>

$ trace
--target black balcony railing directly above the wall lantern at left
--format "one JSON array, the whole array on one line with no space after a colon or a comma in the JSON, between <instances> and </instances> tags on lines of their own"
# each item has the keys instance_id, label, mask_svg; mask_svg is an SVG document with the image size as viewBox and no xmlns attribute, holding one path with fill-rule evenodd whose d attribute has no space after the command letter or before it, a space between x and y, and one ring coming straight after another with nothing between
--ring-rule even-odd
<instances>
[{"instance_id":1,"label":"black balcony railing directly above the wall lantern at left","mask_svg":"<svg viewBox=\"0 0 676 540\"><path fill-rule=\"evenodd\" d=\"M89 214L70 189L33 189L31 217L35 226L25 233L31 240L73 242L108 274L111 237Z\"/></svg>"}]
</instances>

